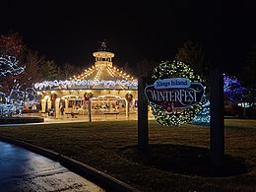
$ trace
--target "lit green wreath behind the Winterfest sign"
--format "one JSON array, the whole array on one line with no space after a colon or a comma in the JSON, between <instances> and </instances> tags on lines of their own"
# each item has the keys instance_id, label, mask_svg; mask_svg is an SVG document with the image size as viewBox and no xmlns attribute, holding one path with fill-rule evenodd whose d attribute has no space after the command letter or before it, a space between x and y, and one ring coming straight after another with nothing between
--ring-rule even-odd
<instances>
[{"instance_id":1,"label":"lit green wreath behind the Winterfest sign","mask_svg":"<svg viewBox=\"0 0 256 192\"><path fill-rule=\"evenodd\" d=\"M194 74L189 65L180 61L161 62L153 71L152 78L155 80L168 78L187 78L191 82L201 82L201 78ZM150 102L157 122L164 126L179 126L191 122L195 115L201 110L201 104L190 106L182 111L172 111L170 113L163 110L160 106Z\"/></svg>"}]
</instances>

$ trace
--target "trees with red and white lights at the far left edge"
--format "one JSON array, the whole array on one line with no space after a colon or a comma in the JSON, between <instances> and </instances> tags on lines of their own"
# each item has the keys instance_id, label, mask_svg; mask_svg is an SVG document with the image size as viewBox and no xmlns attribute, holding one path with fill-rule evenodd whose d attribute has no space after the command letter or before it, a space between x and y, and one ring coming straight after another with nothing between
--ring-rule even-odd
<instances>
[{"instance_id":1,"label":"trees with red and white lights at the far left edge","mask_svg":"<svg viewBox=\"0 0 256 192\"><path fill-rule=\"evenodd\" d=\"M11 108L21 111L25 104L37 102L35 92L32 92L32 80L38 77L40 59L37 53L25 52L25 47L18 32L0 37L0 89L5 97L5 103L1 104L5 113L1 116L10 116L13 113Z\"/></svg>"}]
</instances>

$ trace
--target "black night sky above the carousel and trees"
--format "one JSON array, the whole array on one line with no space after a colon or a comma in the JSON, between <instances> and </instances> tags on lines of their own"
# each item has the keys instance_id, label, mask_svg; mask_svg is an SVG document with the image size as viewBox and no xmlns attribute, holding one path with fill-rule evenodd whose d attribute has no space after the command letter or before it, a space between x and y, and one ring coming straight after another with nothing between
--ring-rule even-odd
<instances>
[{"instance_id":1,"label":"black night sky above the carousel and trees","mask_svg":"<svg viewBox=\"0 0 256 192\"><path fill-rule=\"evenodd\" d=\"M28 47L59 65L91 66L103 39L114 64L172 59L187 39L207 60L237 72L256 37L253 1L6 1L1 33L20 32ZM92 3L94 2L94 3ZM211 3L213 2L213 3Z\"/></svg>"}]
</instances>

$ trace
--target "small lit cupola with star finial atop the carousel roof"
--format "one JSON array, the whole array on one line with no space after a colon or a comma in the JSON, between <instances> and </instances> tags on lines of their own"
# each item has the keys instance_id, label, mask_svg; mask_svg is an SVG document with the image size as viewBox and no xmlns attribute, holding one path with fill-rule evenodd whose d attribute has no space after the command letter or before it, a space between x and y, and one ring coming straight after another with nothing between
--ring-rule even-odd
<instances>
[{"instance_id":1,"label":"small lit cupola with star finial atop the carousel roof","mask_svg":"<svg viewBox=\"0 0 256 192\"><path fill-rule=\"evenodd\" d=\"M114 57L114 53L108 51L105 41L100 43L100 47L93 53L94 57L96 57L96 68L107 66L112 67L112 58Z\"/></svg>"}]
</instances>

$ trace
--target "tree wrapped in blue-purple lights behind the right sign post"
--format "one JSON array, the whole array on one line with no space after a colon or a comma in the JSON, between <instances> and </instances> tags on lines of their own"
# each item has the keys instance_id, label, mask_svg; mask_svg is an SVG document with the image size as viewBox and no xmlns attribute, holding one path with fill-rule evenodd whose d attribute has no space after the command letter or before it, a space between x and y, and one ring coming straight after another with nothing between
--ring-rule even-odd
<instances>
[{"instance_id":1,"label":"tree wrapped in blue-purple lights behind the right sign post","mask_svg":"<svg viewBox=\"0 0 256 192\"><path fill-rule=\"evenodd\" d=\"M224 75L224 95L232 101L241 101L245 98L247 89L235 77Z\"/></svg>"}]
</instances>

